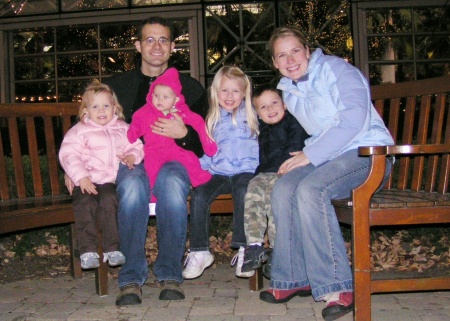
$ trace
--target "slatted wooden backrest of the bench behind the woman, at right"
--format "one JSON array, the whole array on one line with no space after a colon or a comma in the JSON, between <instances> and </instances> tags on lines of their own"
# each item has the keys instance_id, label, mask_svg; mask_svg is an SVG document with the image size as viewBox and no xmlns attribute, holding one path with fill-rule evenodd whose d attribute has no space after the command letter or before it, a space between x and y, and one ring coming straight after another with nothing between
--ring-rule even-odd
<instances>
[{"instance_id":1,"label":"slatted wooden backrest of the bench behind the woman, at right","mask_svg":"<svg viewBox=\"0 0 450 321\"><path fill-rule=\"evenodd\" d=\"M398 145L450 142L450 76L371 87L374 106ZM385 188L447 193L449 156L398 157Z\"/></svg>"}]
</instances>

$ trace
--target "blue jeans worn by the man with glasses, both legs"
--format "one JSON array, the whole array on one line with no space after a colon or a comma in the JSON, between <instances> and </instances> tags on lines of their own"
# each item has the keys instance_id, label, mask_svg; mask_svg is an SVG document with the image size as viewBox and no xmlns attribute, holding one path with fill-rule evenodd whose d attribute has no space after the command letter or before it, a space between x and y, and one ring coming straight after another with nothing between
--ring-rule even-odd
<instances>
[{"instance_id":1,"label":"blue jeans worn by the man with glasses, both legs","mask_svg":"<svg viewBox=\"0 0 450 321\"><path fill-rule=\"evenodd\" d=\"M120 249L126 257L126 263L119 271L119 287L131 283L143 285L148 277L145 241L150 200L150 187L143 164L133 170L120 165L116 184ZM153 270L158 281L183 281L181 273L186 248L186 200L189 191L189 176L180 163L170 162L161 168L153 188L158 199L158 257Z\"/></svg>"}]
</instances>

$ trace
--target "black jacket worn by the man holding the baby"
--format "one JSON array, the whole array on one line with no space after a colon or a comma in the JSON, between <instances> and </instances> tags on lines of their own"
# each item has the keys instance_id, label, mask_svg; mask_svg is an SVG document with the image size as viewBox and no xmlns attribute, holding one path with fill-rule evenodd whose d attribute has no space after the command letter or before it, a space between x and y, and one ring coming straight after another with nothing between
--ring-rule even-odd
<instances>
[{"instance_id":1,"label":"black jacket worn by the man holding the baby","mask_svg":"<svg viewBox=\"0 0 450 321\"><path fill-rule=\"evenodd\" d=\"M146 103L150 84L156 79L156 77L144 75L140 66L141 62L139 61L136 69L103 80L116 93L119 103L123 107L125 120L128 123L131 121L133 113ZM208 110L208 99L202 85L196 79L183 74L180 74L180 82L183 87L182 93L189 108L205 117ZM193 151L198 157L203 156L198 133L191 126L186 127L188 134L184 138L176 139L177 145Z\"/></svg>"}]
</instances>

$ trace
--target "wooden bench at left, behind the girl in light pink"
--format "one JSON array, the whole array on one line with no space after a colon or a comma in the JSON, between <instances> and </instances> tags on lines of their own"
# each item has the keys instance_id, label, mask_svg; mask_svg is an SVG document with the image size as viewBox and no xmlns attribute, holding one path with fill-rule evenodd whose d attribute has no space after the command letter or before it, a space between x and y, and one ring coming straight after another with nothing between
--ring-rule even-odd
<instances>
[{"instance_id":1,"label":"wooden bench at left, behind the girl in light pink","mask_svg":"<svg viewBox=\"0 0 450 321\"><path fill-rule=\"evenodd\" d=\"M73 277L81 277L82 271L74 247L72 197L62 181L57 153L78 108L79 103L0 104L0 235L68 224ZM233 213L231 195L219 196L211 213ZM99 254L103 256L101 247ZM107 295L108 266L100 261L96 291ZM250 289L261 287L261 274L250 279Z\"/></svg>"}]
</instances>

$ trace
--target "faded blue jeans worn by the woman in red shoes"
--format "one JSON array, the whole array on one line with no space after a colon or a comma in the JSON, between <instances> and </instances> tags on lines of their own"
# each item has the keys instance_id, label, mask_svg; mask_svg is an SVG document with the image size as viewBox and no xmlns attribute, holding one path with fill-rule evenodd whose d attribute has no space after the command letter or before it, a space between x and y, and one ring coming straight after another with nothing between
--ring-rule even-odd
<instances>
[{"instance_id":1,"label":"faded blue jeans worn by the woman in red shoes","mask_svg":"<svg viewBox=\"0 0 450 321\"><path fill-rule=\"evenodd\" d=\"M332 199L350 196L369 174L370 159L348 151L315 167L288 172L276 182L272 210L276 226L270 285L275 289L311 286L321 300L353 291L352 272ZM386 173L391 170L387 161Z\"/></svg>"}]
</instances>

